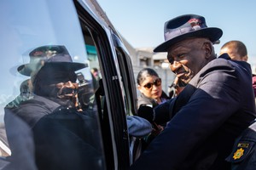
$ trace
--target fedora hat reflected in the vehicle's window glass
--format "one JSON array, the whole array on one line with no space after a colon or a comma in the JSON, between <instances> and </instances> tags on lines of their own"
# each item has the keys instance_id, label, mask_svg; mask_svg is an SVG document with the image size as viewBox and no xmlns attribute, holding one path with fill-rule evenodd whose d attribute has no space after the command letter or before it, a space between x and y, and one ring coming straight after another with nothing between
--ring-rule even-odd
<instances>
[{"instance_id":1,"label":"fedora hat reflected in the vehicle's window glass","mask_svg":"<svg viewBox=\"0 0 256 170\"><path fill-rule=\"evenodd\" d=\"M67 48L61 45L46 45L38 47L29 53L30 62L20 65L17 70L20 74L30 77L32 72L39 71L43 66L54 67L65 71L78 71L86 67L86 64L73 62L67 52Z\"/></svg>"}]
</instances>

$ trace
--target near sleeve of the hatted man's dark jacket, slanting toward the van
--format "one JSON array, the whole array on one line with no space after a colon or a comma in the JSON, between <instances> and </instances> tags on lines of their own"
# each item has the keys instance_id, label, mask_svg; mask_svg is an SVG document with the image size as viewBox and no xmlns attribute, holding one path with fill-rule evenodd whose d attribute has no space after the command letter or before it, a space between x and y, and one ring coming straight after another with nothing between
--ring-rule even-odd
<instances>
[{"instance_id":1,"label":"near sleeve of the hatted man's dark jacket, slanting toward the van","mask_svg":"<svg viewBox=\"0 0 256 170\"><path fill-rule=\"evenodd\" d=\"M200 76L187 105L172 117L131 169L177 169L238 110L241 89L236 86L241 80L236 71L222 68Z\"/></svg>"}]
</instances>

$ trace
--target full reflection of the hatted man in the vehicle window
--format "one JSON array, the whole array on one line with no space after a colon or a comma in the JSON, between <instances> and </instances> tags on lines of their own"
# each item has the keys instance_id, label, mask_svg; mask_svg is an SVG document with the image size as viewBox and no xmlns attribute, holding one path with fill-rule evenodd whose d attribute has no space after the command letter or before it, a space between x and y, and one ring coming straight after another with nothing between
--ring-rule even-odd
<instances>
[{"instance_id":1,"label":"full reflection of the hatted man in the vehicle window","mask_svg":"<svg viewBox=\"0 0 256 170\"><path fill-rule=\"evenodd\" d=\"M23 158L30 161L29 165L32 166L35 159L38 169L84 168L98 156L98 151L84 141L85 137L82 139L80 136L84 136L85 131L98 132L96 114L90 113L90 116L86 116L89 121L84 121L84 112L76 109L78 83L75 71L86 65L74 63L67 53L38 58L40 65L33 63L38 67L32 67L32 63L29 67L23 67L37 69L22 72L27 76L35 73L32 79L33 98L5 111L5 124L13 152L10 166L23 169ZM17 135L14 136L14 133ZM97 133L94 135L97 139ZM27 145L27 141L31 142L30 145ZM80 150L86 150L87 154ZM86 158L87 155L91 158Z\"/></svg>"}]
</instances>

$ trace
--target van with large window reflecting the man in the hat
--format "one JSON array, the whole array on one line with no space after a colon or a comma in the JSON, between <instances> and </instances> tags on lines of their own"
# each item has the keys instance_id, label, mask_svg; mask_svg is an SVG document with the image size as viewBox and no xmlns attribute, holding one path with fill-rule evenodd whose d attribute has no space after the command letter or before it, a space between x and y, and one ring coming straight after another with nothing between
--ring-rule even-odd
<instances>
[{"instance_id":1,"label":"van with large window reflecting the man in the hat","mask_svg":"<svg viewBox=\"0 0 256 170\"><path fill-rule=\"evenodd\" d=\"M96 0L2 0L0 13L0 169L129 168L136 83Z\"/></svg>"}]
</instances>

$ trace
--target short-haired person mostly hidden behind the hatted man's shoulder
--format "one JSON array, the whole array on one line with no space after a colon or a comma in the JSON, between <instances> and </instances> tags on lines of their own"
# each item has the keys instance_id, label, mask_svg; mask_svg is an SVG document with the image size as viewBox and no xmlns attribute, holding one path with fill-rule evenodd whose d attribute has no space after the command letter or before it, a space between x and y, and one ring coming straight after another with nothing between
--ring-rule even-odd
<instances>
[{"instance_id":1,"label":"short-haired person mostly hidden behind the hatted man's shoulder","mask_svg":"<svg viewBox=\"0 0 256 170\"><path fill-rule=\"evenodd\" d=\"M247 62L247 59L248 59L247 47L241 41L232 40L230 42L225 42L224 45L220 48L219 54L221 55L225 53L229 54L230 58L233 60ZM255 74L253 74L253 91L254 91L254 95L256 96L256 75ZM256 98L255 98L255 103L256 103Z\"/></svg>"}]
</instances>

